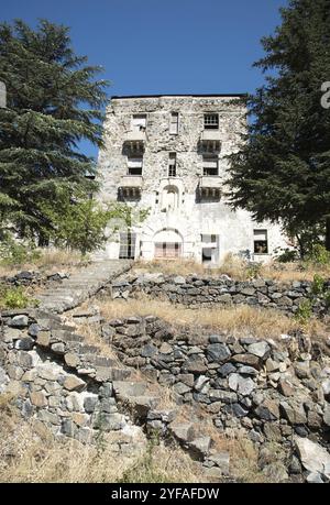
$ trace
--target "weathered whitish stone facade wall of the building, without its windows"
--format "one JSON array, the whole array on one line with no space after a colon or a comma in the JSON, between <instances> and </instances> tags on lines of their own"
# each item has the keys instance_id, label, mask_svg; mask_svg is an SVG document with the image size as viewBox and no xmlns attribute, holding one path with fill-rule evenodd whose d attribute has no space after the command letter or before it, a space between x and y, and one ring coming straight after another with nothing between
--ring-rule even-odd
<instances>
[{"instance_id":1,"label":"weathered whitish stone facade wall of the building, without its windows","mask_svg":"<svg viewBox=\"0 0 330 505\"><path fill-rule=\"evenodd\" d=\"M219 114L218 140L220 152L216 152L219 175L212 177L211 187L220 189L216 198L200 198L204 160L200 140L204 133L204 114ZM170 134L170 113L179 114L178 134ZM227 178L227 156L238 150L241 133L246 129L245 106L238 96L177 96L177 97L122 97L112 98L107 108L105 121L105 149L100 150L98 177L101 184L99 199L103 202L118 198L119 188L128 175L128 152L125 139L131 132L133 114L146 114L144 139L141 197L133 198L136 209L150 209L145 221L133 220L136 232L134 257L152 260L155 256L155 243L163 242L160 233L165 229L173 232L182 245L183 257L194 257L201 263L202 234L216 234L220 246L215 259L219 263L228 252L254 253L253 230L266 229L268 232L268 252L276 248L287 248L280 233L280 227L268 221L256 223L251 213L228 205L224 180ZM213 133L217 131L213 131ZM169 153L176 153L176 176L168 177ZM135 177L136 179L136 177ZM209 183L210 184L210 183ZM205 182L208 187L208 182ZM169 205L167 195L177 195L176 204ZM125 197L132 202L132 198ZM136 217L136 215L135 215ZM118 221L114 223L118 227ZM121 231L127 230L124 222ZM119 257L119 240L110 234L109 242L97 257ZM255 257L260 257L255 255ZM263 259L267 255L261 256Z\"/></svg>"}]
</instances>

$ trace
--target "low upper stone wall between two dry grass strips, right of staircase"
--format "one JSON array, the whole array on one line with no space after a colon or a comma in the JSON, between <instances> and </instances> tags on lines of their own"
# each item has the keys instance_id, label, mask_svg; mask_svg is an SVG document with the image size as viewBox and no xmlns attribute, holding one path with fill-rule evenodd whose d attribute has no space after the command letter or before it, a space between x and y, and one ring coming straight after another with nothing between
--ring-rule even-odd
<instances>
[{"instance_id":1,"label":"low upper stone wall between two dry grass strips, right of staircase","mask_svg":"<svg viewBox=\"0 0 330 505\"><path fill-rule=\"evenodd\" d=\"M328 310L322 297L312 295L310 282L295 281L288 284L265 279L238 282L227 275L216 278L151 273L139 276L129 274L116 281L111 288L113 298L128 298L144 293L191 307L246 304L296 314L299 305L310 299L314 312L324 314Z\"/></svg>"}]
</instances>

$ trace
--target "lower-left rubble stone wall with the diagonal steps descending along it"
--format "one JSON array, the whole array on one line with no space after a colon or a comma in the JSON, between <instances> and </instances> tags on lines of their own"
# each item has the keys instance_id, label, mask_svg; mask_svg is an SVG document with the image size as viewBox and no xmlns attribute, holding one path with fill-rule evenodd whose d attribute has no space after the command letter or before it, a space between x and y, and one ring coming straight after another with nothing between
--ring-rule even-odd
<instances>
[{"instance_id":1,"label":"lower-left rubble stone wall with the diagonal steps descending along it","mask_svg":"<svg viewBox=\"0 0 330 505\"><path fill-rule=\"evenodd\" d=\"M155 391L133 369L84 342L58 316L41 310L2 312L0 394L33 424L56 437L98 443L107 437L121 457L141 454L150 430L175 441L200 461L207 477L226 477L229 454L176 408L161 408ZM97 331L97 327L96 327Z\"/></svg>"}]
</instances>

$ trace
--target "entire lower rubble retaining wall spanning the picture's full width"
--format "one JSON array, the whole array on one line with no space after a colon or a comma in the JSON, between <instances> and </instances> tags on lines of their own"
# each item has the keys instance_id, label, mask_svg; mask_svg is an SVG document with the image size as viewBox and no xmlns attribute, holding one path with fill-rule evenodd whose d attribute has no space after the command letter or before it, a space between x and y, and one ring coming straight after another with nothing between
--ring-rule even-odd
<instances>
[{"instance_id":1,"label":"entire lower rubble retaining wall spanning the picture's full width","mask_svg":"<svg viewBox=\"0 0 330 505\"><path fill-rule=\"evenodd\" d=\"M113 358L59 316L2 312L0 393L12 395L24 417L82 443L107 433L123 454L141 451L145 433L156 430L200 460L206 474L222 479L230 475L229 453L204 433L202 419L211 419L219 433L253 442L272 482L330 479L329 342L178 330L154 316L91 317ZM147 380L134 375L134 367ZM176 406L162 407L164 386ZM184 406L189 421L179 420ZM196 413L200 426L193 422Z\"/></svg>"}]
</instances>

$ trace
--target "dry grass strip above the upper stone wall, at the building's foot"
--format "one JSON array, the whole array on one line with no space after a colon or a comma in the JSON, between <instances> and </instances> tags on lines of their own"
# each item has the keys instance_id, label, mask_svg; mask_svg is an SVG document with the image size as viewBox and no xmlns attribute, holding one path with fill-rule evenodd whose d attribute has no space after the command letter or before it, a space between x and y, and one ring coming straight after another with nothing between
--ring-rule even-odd
<instances>
[{"instance_id":1,"label":"dry grass strip above the upper stone wall, at the building's foot","mask_svg":"<svg viewBox=\"0 0 330 505\"><path fill-rule=\"evenodd\" d=\"M255 277L268 278L282 283L293 281L312 281L315 274L330 277L330 265L312 265L301 263L278 263L274 260L260 266L251 266L244 260L227 254L218 268L208 268L191 260L136 262L133 270L144 272L160 272L166 275L201 275L218 277L226 274L237 281L249 281Z\"/></svg>"}]
</instances>

